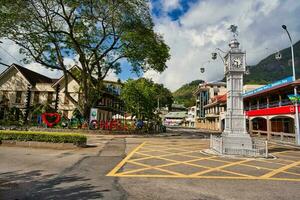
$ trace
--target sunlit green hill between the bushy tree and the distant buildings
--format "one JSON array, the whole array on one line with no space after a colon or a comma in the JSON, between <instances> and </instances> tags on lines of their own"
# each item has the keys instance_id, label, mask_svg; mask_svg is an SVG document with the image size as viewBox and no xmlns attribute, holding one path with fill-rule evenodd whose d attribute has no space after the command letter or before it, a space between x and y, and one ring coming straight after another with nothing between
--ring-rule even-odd
<instances>
[{"instance_id":1,"label":"sunlit green hill between the bushy tree and the distant buildings","mask_svg":"<svg viewBox=\"0 0 300 200\"><path fill-rule=\"evenodd\" d=\"M196 103L193 92L196 90L200 83L203 83L203 80L194 80L190 83L184 84L178 90L173 92L174 101L179 104L184 104L185 107L194 106Z\"/></svg>"}]
</instances>

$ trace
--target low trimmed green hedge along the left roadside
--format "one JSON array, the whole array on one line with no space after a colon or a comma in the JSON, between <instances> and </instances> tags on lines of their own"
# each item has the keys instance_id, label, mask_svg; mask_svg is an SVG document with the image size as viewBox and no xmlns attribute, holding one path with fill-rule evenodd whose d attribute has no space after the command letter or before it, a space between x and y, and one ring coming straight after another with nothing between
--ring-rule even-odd
<instances>
[{"instance_id":1,"label":"low trimmed green hedge along the left roadside","mask_svg":"<svg viewBox=\"0 0 300 200\"><path fill-rule=\"evenodd\" d=\"M82 144L86 144L87 137L78 133L53 133L53 132L0 130L0 141L1 140L73 143L76 145L82 145Z\"/></svg>"}]
</instances>

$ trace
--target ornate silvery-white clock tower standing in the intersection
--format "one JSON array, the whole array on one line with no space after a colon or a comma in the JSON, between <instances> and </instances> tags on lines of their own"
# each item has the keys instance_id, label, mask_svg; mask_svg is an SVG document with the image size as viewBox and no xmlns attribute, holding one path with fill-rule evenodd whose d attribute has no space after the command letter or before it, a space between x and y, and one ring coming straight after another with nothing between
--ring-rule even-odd
<instances>
[{"instance_id":1,"label":"ornate silvery-white clock tower standing in the intersection","mask_svg":"<svg viewBox=\"0 0 300 200\"><path fill-rule=\"evenodd\" d=\"M222 133L226 153L230 150L252 149L252 140L246 130L243 105L243 76L246 72L246 53L239 48L234 37L229 43L230 50L224 57L227 82L227 111L225 130Z\"/></svg>"}]
</instances>

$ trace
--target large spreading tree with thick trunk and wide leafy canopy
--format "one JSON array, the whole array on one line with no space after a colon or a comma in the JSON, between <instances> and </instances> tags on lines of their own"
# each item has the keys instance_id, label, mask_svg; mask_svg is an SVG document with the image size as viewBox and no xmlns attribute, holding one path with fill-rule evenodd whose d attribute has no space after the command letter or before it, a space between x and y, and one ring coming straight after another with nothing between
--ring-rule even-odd
<instances>
[{"instance_id":1,"label":"large spreading tree with thick trunk and wide leafy canopy","mask_svg":"<svg viewBox=\"0 0 300 200\"><path fill-rule=\"evenodd\" d=\"M107 73L121 72L120 60L136 73L166 69L169 47L154 32L148 5L148 0L0 0L0 37L20 46L25 62L61 70L66 96L87 119ZM68 70L66 58L79 73ZM81 103L69 94L68 77L80 83Z\"/></svg>"}]
</instances>

